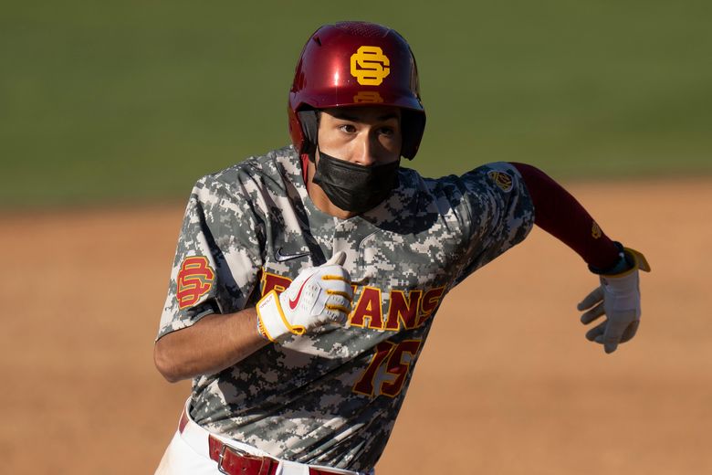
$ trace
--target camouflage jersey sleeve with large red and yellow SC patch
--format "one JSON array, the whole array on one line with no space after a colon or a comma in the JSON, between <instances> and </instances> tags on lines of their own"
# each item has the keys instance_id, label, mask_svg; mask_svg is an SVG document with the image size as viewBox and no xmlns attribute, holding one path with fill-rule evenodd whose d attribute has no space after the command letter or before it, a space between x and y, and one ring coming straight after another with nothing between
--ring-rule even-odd
<instances>
[{"instance_id":1,"label":"camouflage jersey sleeve with large red and yellow SC patch","mask_svg":"<svg viewBox=\"0 0 712 475\"><path fill-rule=\"evenodd\" d=\"M205 315L246 308L258 287L263 260L260 223L246 193L210 175L196 183L185 209L156 339Z\"/></svg>"}]
</instances>

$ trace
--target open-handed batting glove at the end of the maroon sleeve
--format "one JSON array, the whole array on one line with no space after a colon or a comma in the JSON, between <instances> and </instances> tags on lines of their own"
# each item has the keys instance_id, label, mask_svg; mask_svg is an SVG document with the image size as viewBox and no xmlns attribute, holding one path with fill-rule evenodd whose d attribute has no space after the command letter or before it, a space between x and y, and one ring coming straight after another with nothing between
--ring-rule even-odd
<instances>
[{"instance_id":1,"label":"open-handed batting glove at the end of the maroon sleeve","mask_svg":"<svg viewBox=\"0 0 712 475\"><path fill-rule=\"evenodd\" d=\"M633 260L633 267L621 274L602 275L601 287L593 290L578 305L581 323L589 324L601 317L606 320L586 332L586 339L601 343L606 353L613 353L619 343L635 336L640 324L640 284L638 269L650 272L644 255L637 250L624 248L626 257Z\"/></svg>"}]
</instances>

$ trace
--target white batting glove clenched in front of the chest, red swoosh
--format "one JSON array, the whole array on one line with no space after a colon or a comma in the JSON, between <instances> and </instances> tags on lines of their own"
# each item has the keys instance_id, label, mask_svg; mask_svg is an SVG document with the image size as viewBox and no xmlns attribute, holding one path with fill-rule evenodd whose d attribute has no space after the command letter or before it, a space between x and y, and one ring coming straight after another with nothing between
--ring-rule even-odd
<instances>
[{"instance_id":1,"label":"white batting glove clenched in front of the chest, red swoosh","mask_svg":"<svg viewBox=\"0 0 712 475\"><path fill-rule=\"evenodd\" d=\"M272 290L257 302L257 329L270 342L301 335L319 326L346 322L353 290L339 251L319 267L302 270L288 289Z\"/></svg>"}]
</instances>

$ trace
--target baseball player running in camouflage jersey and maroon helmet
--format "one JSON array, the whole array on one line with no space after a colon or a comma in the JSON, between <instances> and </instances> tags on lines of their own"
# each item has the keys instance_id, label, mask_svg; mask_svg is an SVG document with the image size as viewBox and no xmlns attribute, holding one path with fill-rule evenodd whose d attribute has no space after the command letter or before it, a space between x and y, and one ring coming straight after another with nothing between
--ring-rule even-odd
<instances>
[{"instance_id":1,"label":"baseball player running in camouflage jersey and maroon helmet","mask_svg":"<svg viewBox=\"0 0 712 475\"><path fill-rule=\"evenodd\" d=\"M320 27L292 144L194 186L155 364L192 394L157 473L372 473L448 291L534 224L599 274L580 304L606 353L633 338L644 257L526 164L424 178L413 53L384 26Z\"/></svg>"}]
</instances>

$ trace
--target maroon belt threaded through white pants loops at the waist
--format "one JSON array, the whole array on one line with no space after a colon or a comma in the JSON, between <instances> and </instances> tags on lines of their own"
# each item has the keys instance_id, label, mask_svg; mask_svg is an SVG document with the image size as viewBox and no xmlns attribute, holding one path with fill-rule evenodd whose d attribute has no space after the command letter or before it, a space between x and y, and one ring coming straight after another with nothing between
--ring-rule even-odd
<instances>
[{"instance_id":1,"label":"maroon belt threaded through white pants loops at the waist","mask_svg":"<svg viewBox=\"0 0 712 475\"><path fill-rule=\"evenodd\" d=\"M178 430L183 433L188 425L188 415L183 409ZM230 447L220 439L208 436L210 458L217 462L217 470L228 475L275 475L279 460L248 454L244 450ZM309 467L309 475L340 475L336 471Z\"/></svg>"}]
</instances>

